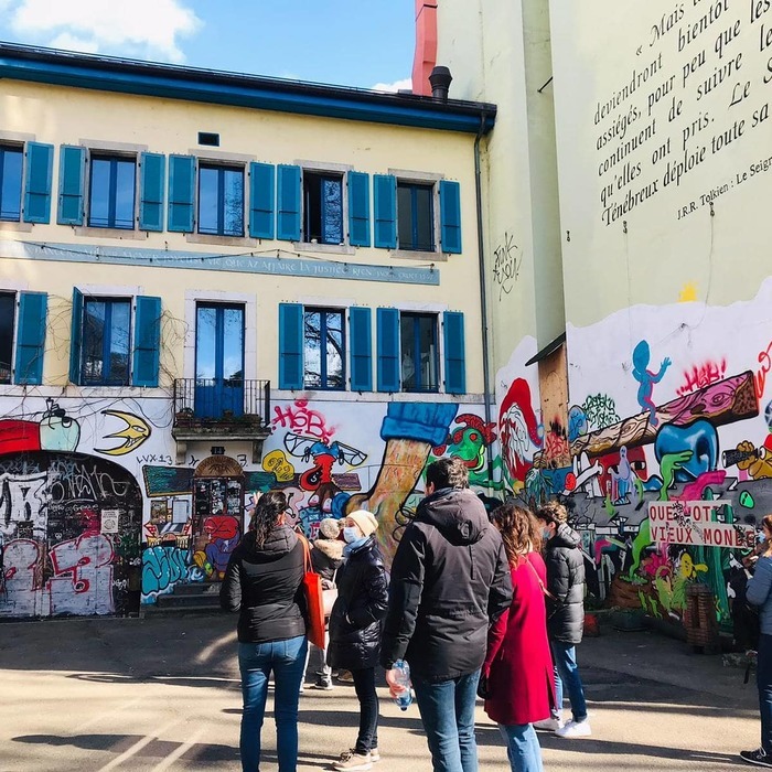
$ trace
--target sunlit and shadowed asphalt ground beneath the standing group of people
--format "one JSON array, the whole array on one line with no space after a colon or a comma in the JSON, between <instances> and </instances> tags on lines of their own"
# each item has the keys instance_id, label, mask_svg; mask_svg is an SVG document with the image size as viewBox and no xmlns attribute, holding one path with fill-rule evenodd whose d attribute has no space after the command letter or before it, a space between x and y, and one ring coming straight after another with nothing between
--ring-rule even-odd
<instances>
[{"instance_id":1,"label":"sunlit and shadowed asphalt ground beneath the standing group of people","mask_svg":"<svg viewBox=\"0 0 772 772\"><path fill-rule=\"evenodd\" d=\"M0 624L0 772L240 770L235 616L55 620ZM759 744L753 682L656 633L604 631L579 647L592 737L539 733L545 770L751 769ZM310 686L310 684L309 684ZM376 772L431 770L418 710L380 691ZM269 701L268 710L271 710ZM350 685L308 688L300 770L325 769L353 746ZM272 714L262 770L277 769ZM510 769L479 706L482 770Z\"/></svg>"}]
</instances>

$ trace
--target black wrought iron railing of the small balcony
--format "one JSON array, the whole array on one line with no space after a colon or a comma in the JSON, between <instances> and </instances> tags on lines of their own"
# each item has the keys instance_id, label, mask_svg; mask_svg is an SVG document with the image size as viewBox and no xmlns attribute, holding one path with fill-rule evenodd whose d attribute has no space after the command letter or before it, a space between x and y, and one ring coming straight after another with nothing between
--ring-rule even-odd
<instances>
[{"instance_id":1,"label":"black wrought iron railing of the small balcony","mask_svg":"<svg viewBox=\"0 0 772 772\"><path fill-rule=\"evenodd\" d=\"M270 380L178 378L174 427L270 423Z\"/></svg>"}]
</instances>

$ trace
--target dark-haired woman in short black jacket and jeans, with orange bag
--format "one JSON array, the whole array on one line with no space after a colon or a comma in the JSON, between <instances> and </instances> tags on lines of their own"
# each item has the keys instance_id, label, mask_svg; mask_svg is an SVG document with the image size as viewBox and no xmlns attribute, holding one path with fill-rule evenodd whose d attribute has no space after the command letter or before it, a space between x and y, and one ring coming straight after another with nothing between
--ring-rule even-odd
<instances>
[{"instance_id":1,"label":"dark-haired woman in short black jacket and jeans, with orange bag","mask_svg":"<svg viewBox=\"0 0 772 772\"><path fill-rule=\"evenodd\" d=\"M303 545L285 524L287 496L260 496L248 532L234 549L219 590L219 603L238 611L238 666L244 714L239 749L243 772L260 764L260 730L268 679L274 673L279 772L298 765L298 699L305 668L305 573Z\"/></svg>"}]
</instances>

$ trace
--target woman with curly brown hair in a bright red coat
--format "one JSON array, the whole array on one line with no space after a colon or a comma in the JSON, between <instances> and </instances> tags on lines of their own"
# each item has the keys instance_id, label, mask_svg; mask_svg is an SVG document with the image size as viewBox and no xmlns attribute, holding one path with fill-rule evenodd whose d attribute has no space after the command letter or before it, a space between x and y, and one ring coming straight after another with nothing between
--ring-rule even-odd
<instances>
[{"instance_id":1,"label":"woman with curly brown hair in a bright red coat","mask_svg":"<svg viewBox=\"0 0 772 772\"><path fill-rule=\"evenodd\" d=\"M555 703L547 641L540 534L527 511L504 504L493 513L512 571L512 605L493 624L482 667L485 712L498 723L513 772L542 772L542 749L532 726Z\"/></svg>"}]
</instances>

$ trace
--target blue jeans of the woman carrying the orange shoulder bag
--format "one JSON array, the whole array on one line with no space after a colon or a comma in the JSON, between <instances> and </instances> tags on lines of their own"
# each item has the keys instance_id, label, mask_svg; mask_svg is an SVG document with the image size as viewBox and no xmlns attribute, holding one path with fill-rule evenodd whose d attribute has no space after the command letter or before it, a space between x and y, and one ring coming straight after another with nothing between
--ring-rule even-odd
<instances>
[{"instance_id":1,"label":"blue jeans of the woman carrying the orange shoulder bag","mask_svg":"<svg viewBox=\"0 0 772 772\"><path fill-rule=\"evenodd\" d=\"M257 772L260 768L260 730L271 672L279 772L294 772L298 765L298 699L307 648L304 635L287 641L238 644L244 695L239 740L243 772Z\"/></svg>"}]
</instances>

